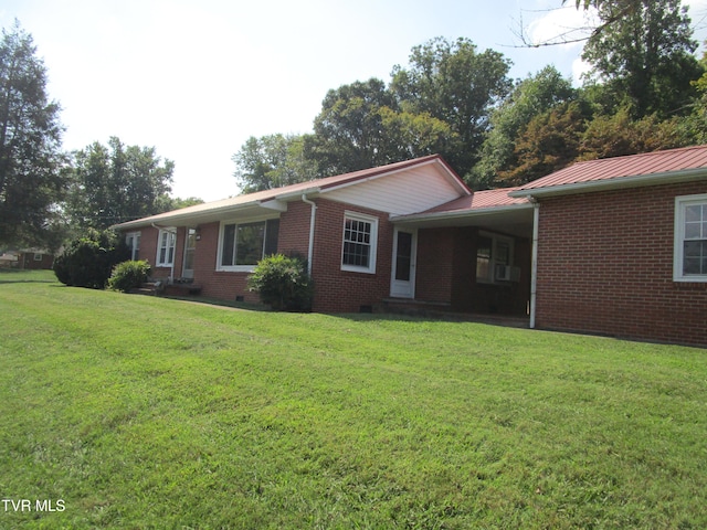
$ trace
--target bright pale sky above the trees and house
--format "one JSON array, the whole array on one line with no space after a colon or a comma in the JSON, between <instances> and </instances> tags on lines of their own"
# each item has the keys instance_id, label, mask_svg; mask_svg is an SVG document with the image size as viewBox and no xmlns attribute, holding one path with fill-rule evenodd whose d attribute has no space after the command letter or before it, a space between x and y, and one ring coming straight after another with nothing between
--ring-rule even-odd
<instances>
[{"instance_id":1,"label":"bright pale sky above the trees and house","mask_svg":"<svg viewBox=\"0 0 707 530\"><path fill-rule=\"evenodd\" d=\"M64 147L110 136L175 161L172 194L239 193L231 157L250 136L300 134L330 88L379 77L435 36L493 49L523 78L577 75L580 45L523 47L581 22L561 0L4 0L49 70ZM705 40L707 0L683 1Z\"/></svg>"}]
</instances>

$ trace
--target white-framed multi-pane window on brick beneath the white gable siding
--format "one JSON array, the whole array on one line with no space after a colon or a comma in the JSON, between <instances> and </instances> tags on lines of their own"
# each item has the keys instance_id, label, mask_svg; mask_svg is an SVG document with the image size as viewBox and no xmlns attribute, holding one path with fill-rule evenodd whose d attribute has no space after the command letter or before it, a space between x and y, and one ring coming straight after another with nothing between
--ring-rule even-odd
<instances>
[{"instance_id":1,"label":"white-framed multi-pane window on brick beneath the white gable siding","mask_svg":"<svg viewBox=\"0 0 707 530\"><path fill-rule=\"evenodd\" d=\"M376 273L378 219L347 212L344 216L341 271Z\"/></svg>"}]
</instances>

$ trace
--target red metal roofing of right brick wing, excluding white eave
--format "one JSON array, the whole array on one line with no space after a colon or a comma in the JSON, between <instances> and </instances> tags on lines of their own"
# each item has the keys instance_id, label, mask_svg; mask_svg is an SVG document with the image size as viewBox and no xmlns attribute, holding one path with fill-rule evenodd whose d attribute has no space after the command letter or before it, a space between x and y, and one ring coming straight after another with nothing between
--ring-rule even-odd
<instances>
[{"instance_id":1,"label":"red metal roofing of right brick wing, excluding white eave","mask_svg":"<svg viewBox=\"0 0 707 530\"><path fill-rule=\"evenodd\" d=\"M518 191L698 169L707 169L707 146L577 162L521 186Z\"/></svg>"}]
</instances>

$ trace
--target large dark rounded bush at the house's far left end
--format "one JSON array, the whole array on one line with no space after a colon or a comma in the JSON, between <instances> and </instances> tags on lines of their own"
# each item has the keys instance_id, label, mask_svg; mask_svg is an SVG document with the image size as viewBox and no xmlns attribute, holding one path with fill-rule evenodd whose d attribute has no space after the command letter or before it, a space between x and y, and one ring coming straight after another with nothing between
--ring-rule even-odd
<instances>
[{"instance_id":1,"label":"large dark rounded bush at the house's far left end","mask_svg":"<svg viewBox=\"0 0 707 530\"><path fill-rule=\"evenodd\" d=\"M54 274L64 285L103 289L113 267L129 259L130 251L113 231L89 230L72 241L54 259Z\"/></svg>"}]
</instances>

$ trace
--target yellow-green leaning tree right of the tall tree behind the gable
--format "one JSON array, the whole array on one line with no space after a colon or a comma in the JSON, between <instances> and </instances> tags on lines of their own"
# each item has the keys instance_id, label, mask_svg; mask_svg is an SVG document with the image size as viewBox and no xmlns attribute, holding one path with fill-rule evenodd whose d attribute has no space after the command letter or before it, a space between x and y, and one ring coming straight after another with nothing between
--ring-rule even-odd
<instances>
[{"instance_id":1,"label":"yellow-green leaning tree right of the tall tree behind the gable","mask_svg":"<svg viewBox=\"0 0 707 530\"><path fill-rule=\"evenodd\" d=\"M517 163L515 141L530 120L577 97L572 83L555 66L546 66L535 76L519 82L490 115L492 130L482 147L479 162L467 177L468 184L475 190L494 186L499 171L507 171Z\"/></svg>"}]
</instances>

